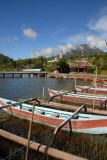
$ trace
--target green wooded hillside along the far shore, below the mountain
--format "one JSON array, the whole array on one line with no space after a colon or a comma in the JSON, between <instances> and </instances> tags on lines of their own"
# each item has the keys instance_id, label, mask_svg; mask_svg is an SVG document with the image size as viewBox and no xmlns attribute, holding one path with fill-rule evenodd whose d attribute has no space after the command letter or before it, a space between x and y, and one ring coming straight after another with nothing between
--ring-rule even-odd
<instances>
[{"instance_id":1,"label":"green wooded hillside along the far shore, below the mountain","mask_svg":"<svg viewBox=\"0 0 107 160\"><path fill-rule=\"evenodd\" d=\"M102 54L90 54L90 55L84 55L84 56L71 56L70 58L64 58L65 63L69 62L75 62L75 60L82 60L82 58L87 58L88 62L93 64L94 67L90 68L92 73L94 73L95 68L98 69L98 74L107 74L107 52ZM60 63L51 63L48 64L47 62L49 60L55 59L55 57L50 58L29 58L29 59L18 59L13 60L12 58L9 58L8 56L5 56L3 54L0 54L0 70L22 70L27 68L44 68L47 72L53 72L54 67L58 66ZM61 64L60 64L61 65ZM64 65L67 66L67 65ZM66 71L65 71L66 72ZM68 70L67 70L68 72Z\"/></svg>"}]
</instances>

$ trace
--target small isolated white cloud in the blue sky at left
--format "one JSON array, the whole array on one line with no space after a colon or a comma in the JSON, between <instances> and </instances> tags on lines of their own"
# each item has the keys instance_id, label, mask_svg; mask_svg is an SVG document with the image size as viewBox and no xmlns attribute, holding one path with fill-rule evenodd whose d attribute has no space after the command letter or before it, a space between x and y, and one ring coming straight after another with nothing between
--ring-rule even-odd
<instances>
[{"instance_id":1,"label":"small isolated white cloud in the blue sky at left","mask_svg":"<svg viewBox=\"0 0 107 160\"><path fill-rule=\"evenodd\" d=\"M31 28L23 29L23 35L28 37L29 39L36 39L37 33Z\"/></svg>"}]
</instances>

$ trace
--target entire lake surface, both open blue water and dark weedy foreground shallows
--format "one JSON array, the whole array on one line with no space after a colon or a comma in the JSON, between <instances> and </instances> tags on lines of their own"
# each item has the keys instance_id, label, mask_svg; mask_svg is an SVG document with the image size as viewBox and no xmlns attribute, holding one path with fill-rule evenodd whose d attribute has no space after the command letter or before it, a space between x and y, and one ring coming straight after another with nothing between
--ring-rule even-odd
<instances>
[{"instance_id":1,"label":"entire lake surface, both open blue water and dark weedy foreground shallows","mask_svg":"<svg viewBox=\"0 0 107 160\"><path fill-rule=\"evenodd\" d=\"M77 85L91 85L91 81L77 80L76 83ZM0 97L18 100L19 98L27 99L38 95L42 96L43 86L45 87L45 95L49 97L48 88L58 90L74 89L75 81L74 79L46 77L0 78ZM28 128L29 121L9 116L3 111L0 112L0 129L27 138ZM49 126L33 123L31 139L34 141L41 139L52 134L53 130ZM48 145L49 141L49 139L46 139L45 141L40 141L40 143ZM0 156L2 158L11 155L20 147L22 146L0 137ZM70 137L69 132L60 131L52 147L90 160L107 159L107 135L72 133ZM26 148L17 152L11 159L25 159L25 153ZM41 160L43 157L43 154L29 150L30 160ZM53 160L54 158L45 157L44 159Z\"/></svg>"}]
</instances>

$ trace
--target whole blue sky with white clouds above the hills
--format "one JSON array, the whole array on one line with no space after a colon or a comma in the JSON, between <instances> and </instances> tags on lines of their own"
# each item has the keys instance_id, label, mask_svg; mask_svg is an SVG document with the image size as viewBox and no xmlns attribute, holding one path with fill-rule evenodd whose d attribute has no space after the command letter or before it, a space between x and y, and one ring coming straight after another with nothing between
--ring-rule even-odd
<instances>
[{"instance_id":1,"label":"whole blue sky with white clouds above the hills","mask_svg":"<svg viewBox=\"0 0 107 160\"><path fill-rule=\"evenodd\" d=\"M107 51L107 0L0 0L0 53L13 59Z\"/></svg>"}]
</instances>

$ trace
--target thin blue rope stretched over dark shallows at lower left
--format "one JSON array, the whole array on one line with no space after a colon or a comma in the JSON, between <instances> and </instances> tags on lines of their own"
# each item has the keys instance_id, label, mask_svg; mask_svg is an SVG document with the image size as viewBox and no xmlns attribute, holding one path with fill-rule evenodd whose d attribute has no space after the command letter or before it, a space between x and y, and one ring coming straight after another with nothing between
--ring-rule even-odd
<instances>
[{"instance_id":1,"label":"thin blue rope stretched over dark shallows at lower left","mask_svg":"<svg viewBox=\"0 0 107 160\"><path fill-rule=\"evenodd\" d=\"M51 136L53 136L53 133L50 134L50 135L48 135L48 136L45 136L45 137L43 137L43 138L37 139L36 141L32 141L30 144L32 144L32 143L34 143L34 142L38 142L38 141L44 140L44 139L47 139L48 137L51 137ZM14 154L16 154L18 151L20 151L21 149L23 149L23 148L25 148L25 147L27 147L27 144L24 145L24 146L22 146L21 148L19 148L19 149L16 150L15 152L11 153L10 155L8 155L7 157L5 157L5 158L2 159L2 160L7 160L8 158L12 157Z\"/></svg>"}]
</instances>

